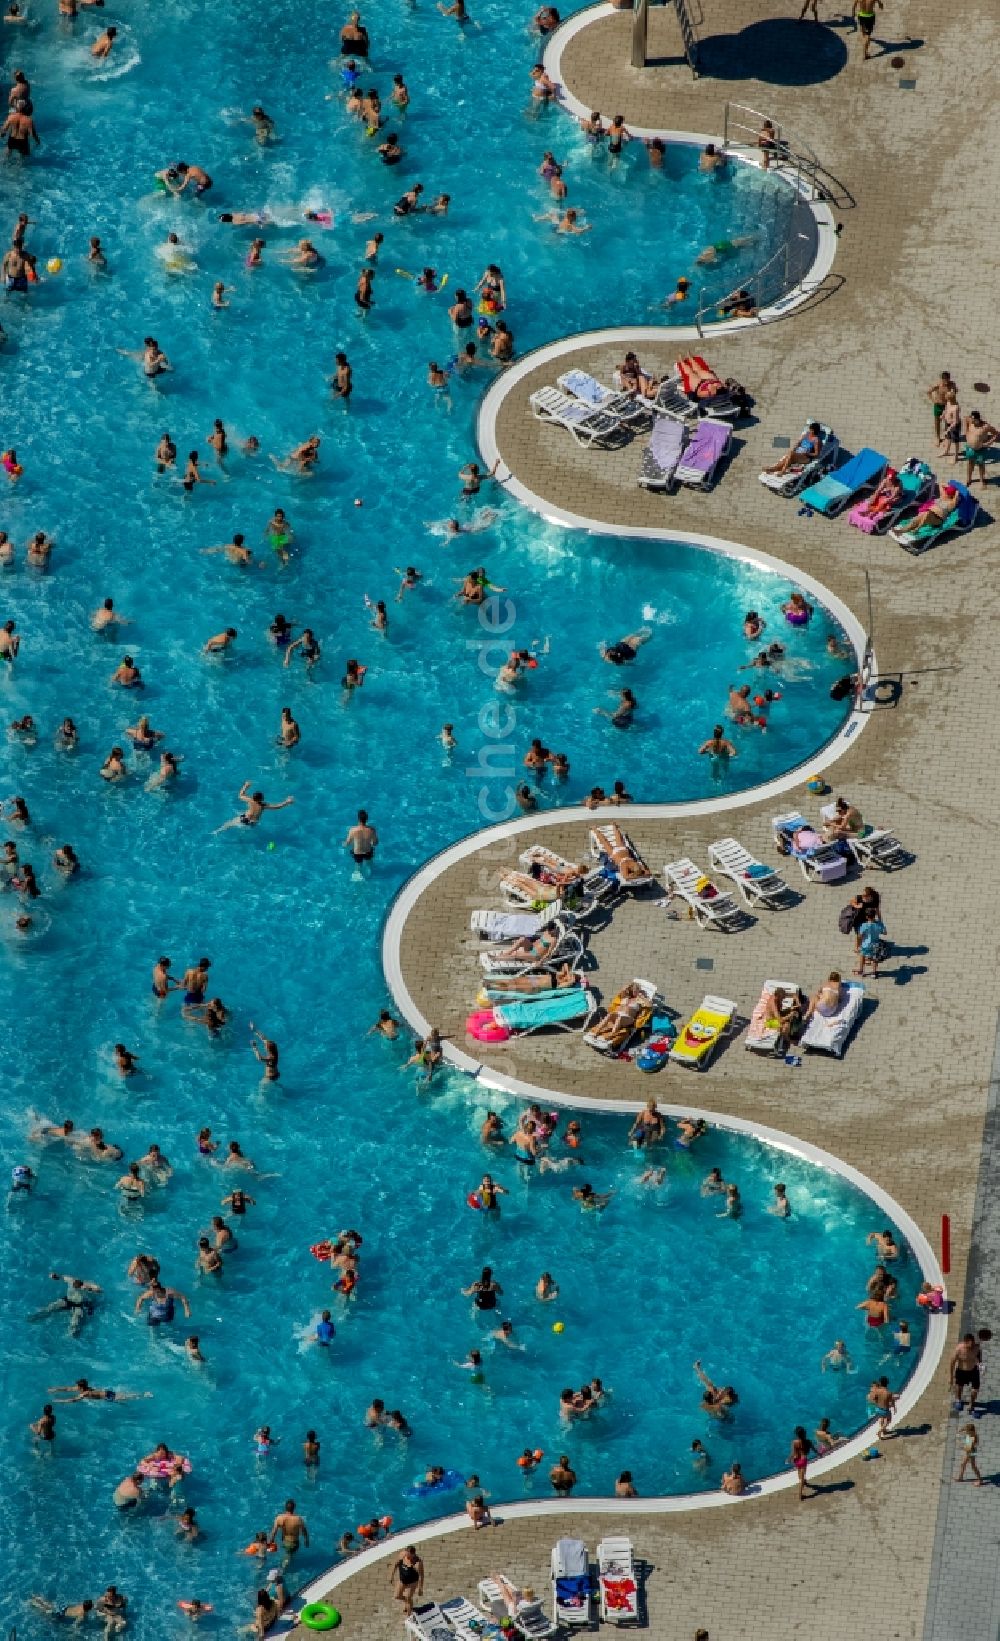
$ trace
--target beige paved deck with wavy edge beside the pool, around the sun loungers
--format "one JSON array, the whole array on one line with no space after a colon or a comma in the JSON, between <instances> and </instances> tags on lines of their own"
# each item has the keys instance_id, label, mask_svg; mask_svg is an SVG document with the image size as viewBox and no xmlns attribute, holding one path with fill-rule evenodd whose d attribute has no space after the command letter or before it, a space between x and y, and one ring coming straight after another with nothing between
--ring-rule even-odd
<instances>
[{"instance_id":1,"label":"beige paved deck with wavy edge beside the pool, around the sun loungers","mask_svg":"<svg viewBox=\"0 0 1000 1641\"><path fill-rule=\"evenodd\" d=\"M821 15L826 10L828 0L821 0ZM949 1290L957 1301L951 1334L959 1319L997 1329L1000 1293L982 1267L995 1239L992 1188L1000 1147L993 1136L984 1157L982 1132L1000 998L1000 532L989 522L924 560L910 560L893 543L860 538L844 522L798 519L791 504L757 484L755 474L773 459L772 437L795 433L811 415L834 422L851 448L872 443L888 446L897 459L931 456L923 389L943 366L962 386L967 409L980 404L993 420L1000 414L992 272L1000 226L984 174L984 154L997 151L1000 136L990 67L1000 48L1000 18L974 0L956 0L946 10L931 0L908 0L905 8L887 0L878 33L892 34L893 46L903 43L906 62L892 69L893 51L862 64L857 38L836 20L811 44L814 25L793 21L798 5L783 13L772 0L704 0L704 11L703 34L734 34L744 26L760 33L762 25L777 25L773 46L760 59L770 84L736 77L736 51L727 59L731 79L693 80L678 66L640 75L627 67L627 16L601 23L601 33L581 31L563 59L565 77L585 103L621 110L626 120L647 126L714 130L726 97L773 110L811 141L857 199L856 210L839 213L844 233L834 276L844 286L787 322L700 350L724 374L747 382L760 417L741 432L744 448L708 496L649 497L634 482L635 446L586 456L567 435L539 428L525 410L530 374L504 405L498 440L519 478L557 507L622 527L673 525L742 540L811 569L859 614L867 610L870 571L880 665L918 670L918 676L903 681L895 711L874 714L834 778L837 789L849 791L865 812L887 817L916 852L911 868L875 880L890 934L905 955L870 988L878 1006L841 1065L811 1058L800 1070L770 1067L737 1042L704 1076L670 1068L652 1086L670 1101L691 1099L814 1139L883 1183L931 1239L939 1216L949 1213ZM654 53L677 51L673 26L668 10L654 10ZM782 39L793 30L803 41L796 48L800 79L801 64L833 62L837 41L846 46L846 66L810 85L773 82L791 77L783 69ZM915 79L916 87L901 89L900 79ZM552 120L545 143L555 141L555 112ZM665 246L665 290L675 274ZM670 363L675 353L668 338L640 351L657 363ZM608 350L585 350L565 368L571 363L604 369L614 361ZM969 392L972 382L990 379L995 391L989 399ZM987 504L990 514L1000 509L1000 486L990 486ZM681 850L703 857L704 843L719 832L732 830L767 850L768 812L750 802L727 814L721 827L640 820L635 835L655 866ZM547 832L547 840L573 853L581 832L580 822L567 820ZM486 891L501 863L502 857L465 862L438 883L407 927L407 983L445 1029L460 1031L466 1009L468 907L489 904ZM668 981L677 1006L729 988L752 1004L760 981L787 963L813 981L846 957L836 927L844 898L836 888L806 888L796 909L764 914L744 935L716 937L667 922L652 907L627 906L594 942L599 983L614 986L652 967L650 978ZM714 967L696 968L700 957L713 958ZM898 967L901 976L893 973ZM532 1047L530 1055L519 1049L517 1060L529 1072L557 1076L560 1086L635 1096L639 1073L629 1080L627 1068L588 1063L580 1050L557 1058L547 1045ZM980 1163L993 1172L984 1172L970 1249ZM970 1252L977 1308L962 1318ZM795 1342L783 1349L791 1424ZM995 1362L987 1388L995 1392ZM987 1477L1000 1470L995 1424L987 1416L979 1426ZM883 1457L837 1470L831 1490L806 1505L782 1493L747 1500L739 1511L627 1521L593 1511L465 1531L427 1543L427 1592L471 1595L493 1567L545 1592L557 1536L580 1534L593 1551L606 1531L627 1526L649 1569L649 1633L657 1641L690 1641L696 1625L709 1630L711 1641L987 1638L1000 1621L993 1577L1000 1488L941 1485L943 1470L954 1462L952 1431L938 1374L905 1429L885 1444ZM360 1641L401 1631L389 1561L360 1566L337 1590L337 1605L345 1615L342 1633Z\"/></svg>"}]
</instances>

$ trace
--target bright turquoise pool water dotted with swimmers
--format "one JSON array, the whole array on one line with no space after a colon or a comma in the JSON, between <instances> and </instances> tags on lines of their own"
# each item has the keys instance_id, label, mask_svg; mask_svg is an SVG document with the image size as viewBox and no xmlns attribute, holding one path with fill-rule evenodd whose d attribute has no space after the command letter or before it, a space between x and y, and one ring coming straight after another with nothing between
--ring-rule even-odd
<instances>
[{"instance_id":1,"label":"bright turquoise pool water dotted with swimmers","mask_svg":"<svg viewBox=\"0 0 1000 1641\"><path fill-rule=\"evenodd\" d=\"M371 82L386 94L399 67L414 95L407 161L394 172L348 130L340 103L325 102L337 89L327 59L340 16L319 7L261 26L259 11L238 3L205 28L194 7L140 3L128 18L112 8L87 15L76 33L46 16L16 36L44 146L23 171L0 167L0 210L8 222L18 210L33 218L28 245L43 269L53 256L64 263L28 307L16 297L3 305L10 341L0 354L0 441L15 445L25 466L0 497L0 528L16 543L13 568L0 574L2 617L23 633L0 684L2 722L31 714L38 725L34 745L16 735L3 742L0 796L25 796L31 822L7 824L0 835L16 840L43 891L21 932L15 917L26 909L13 893L0 896L0 1142L8 1165L30 1159L39 1173L36 1195L11 1201L3 1239L11 1326L2 1510L18 1577L0 1598L0 1621L16 1623L18 1634L46 1631L25 1615L23 1592L74 1600L110 1579L131 1595L133 1630L149 1641L181 1621L174 1603L187 1595L215 1602L225 1623L233 1613L246 1618L255 1575L235 1549L289 1493L314 1529L297 1580L376 1506L401 1523L433 1513L440 1500L404 1498L424 1464L478 1469L494 1497L509 1495L519 1477L512 1457L525 1441L547 1452L560 1444L553 1410L567 1375L599 1374L616 1392L606 1413L570 1436L581 1485L598 1492L626 1464L647 1492L696 1485L685 1452L701 1429L690 1377L698 1352L709 1370L741 1383L747 1474L782 1462L787 1423L819 1411L847 1424L860 1416L860 1380L836 1395L808 1380L795 1411L775 1421L773 1324L762 1329L752 1318L734 1332L732 1314L741 1293L752 1313L768 1283L777 1306L768 1314L796 1341L808 1334L813 1354L826 1349L828 1336L851 1326L867 1272L862 1232L872 1214L862 1198L805 1170L801 1188L791 1183L796 1219L777 1226L757 1209L775 1170L793 1182L795 1165L713 1137L698 1170L718 1160L744 1185L750 1208L737 1231L711 1218L683 1168L665 1193L640 1193L621 1124L594 1122L588 1163L596 1180L619 1188L606 1216L581 1227L563 1180L525 1183L498 1163L512 1196L501 1224L488 1227L465 1208L483 1168L466 1085L445 1080L427 1095L401 1075L399 1049L365 1037L384 1001L376 934L388 899L432 850L483 820L479 714L498 701L493 671L502 655L484 655L489 633L475 610L455 606L453 578L486 563L514 607L504 642L534 645L540 658L524 693L504 699L516 711L511 768L534 735L570 755L568 781L544 783L542 802L575 801L614 778L637 798L698 798L714 781L754 784L808 758L842 717L828 694L842 663L826 655L833 625L818 612L790 637L767 734L736 732L739 758L713 771L696 747L722 712L734 670L752 655L742 614L757 607L773 638L790 587L680 545L558 532L502 492L484 492L471 510L458 504L455 476L475 451L486 373L455 382L450 405L430 394L427 361L447 359L455 341L443 304L419 297L396 266L433 261L455 289L499 261L507 318L524 348L634 315L703 243L747 223L777 233L788 208L773 181L737 174L716 184L677 153L662 177L645 174L642 156L611 172L555 112L529 123L519 110L534 48L499 7L476 7L476 15L483 28L465 43L430 8L369 18ZM122 49L95 72L85 44L108 21ZM282 136L263 153L236 120L258 98ZM562 151L573 197L596 225L571 245L530 223L545 205L534 166L548 146ZM151 199L153 171L176 158L212 171L210 205ZM429 190L453 194L445 222L391 220L391 200L417 176ZM317 235L327 266L310 282L274 256L294 241L305 200L337 213L337 226ZM215 215L259 205L287 228L266 231L266 264L251 274L243 267L250 233ZM368 210L371 222L351 222ZM351 290L363 241L379 226L376 310L361 325ZM158 258L169 230L197 271L169 272ZM92 277L84 263L90 235L103 240L108 277ZM233 286L223 312L210 307L215 279ZM141 346L149 333L176 366L159 389L115 351ZM338 348L355 366L350 415L325 389ZM205 445L215 417L233 446L256 435L263 455L235 453L218 468ZM172 476L156 476L164 430L181 456L200 446L213 487L186 496ZM323 437L319 476L276 473L269 455L314 430ZM287 566L264 542L278 505L296 527ZM484 505L496 509L494 522L458 545L425 528L453 512L481 522ZM46 574L25 563L36 530L56 542ZM233 532L255 550L245 571L202 553ZM396 604L394 566L409 563L424 581ZM108 596L130 617L113 638L90 630L92 610ZM365 596L388 601L388 637L369 630ZM323 658L312 673L299 663L282 670L266 637L278 610L296 630L314 625ZM204 642L227 625L240 632L235 653L202 656ZM599 660L601 638L642 625L652 638L635 666L619 673ZM144 674L141 696L108 683L125 651ZM368 663L368 674L345 704L338 679L348 656ZM612 704L608 691L622 683L640 702L629 732L593 712ZM302 727L292 753L274 743L282 706ZM143 711L184 760L169 794L146 789L154 761L131 750L123 784L108 788L99 776L112 745L128 747L125 727ZM79 729L76 752L54 747L66 715ZM447 720L458 738L452 758L437 738ZM215 835L246 779L273 801L294 796L296 806L258 832ZM499 779L509 776L499 771ZM363 802L383 843L373 880L356 883L340 840ZM66 842L82 862L72 880L53 866ZM149 968L161 952L177 971L202 952L212 957L212 993L233 1011L222 1037L182 1022L174 1001L154 1004ZM266 1090L248 1049L251 1019L282 1050L282 1078ZM141 1075L128 1083L113 1072L115 1042L140 1055ZM174 1178L141 1209L125 1208L113 1190L120 1168L82 1163L62 1147L36 1154L31 1109L71 1116L80 1129L100 1124L126 1160L156 1140ZM223 1140L238 1137L271 1175L250 1185L258 1206L220 1283L194 1275L197 1234L233 1183L197 1155L204 1124ZM304 1346L328 1296L309 1244L342 1224L366 1239L363 1285L350 1314L337 1316L338 1339L325 1355ZM685 1264L696 1270L706 1234L726 1246L726 1278L698 1310L686 1278L672 1272L667 1280L657 1237L686 1247ZM642 1236L652 1239L645 1275L634 1260ZM204 1372L189 1370L171 1341L133 1318L138 1290L125 1267L140 1249L189 1293ZM491 1355L483 1388L452 1360L476 1339L458 1288L491 1254L527 1351ZM540 1264L558 1265L563 1285L558 1341L530 1300ZM49 1270L103 1288L79 1339L67 1337L59 1316L25 1321L56 1291ZM842 1305L831 1298L829 1272ZM614 1351L599 1326L609 1280L632 1295L642 1318ZM176 1326L172 1342L182 1336ZM654 1372L672 1382L655 1429L642 1413L642 1377ZM153 1400L57 1410L56 1451L38 1459L28 1419L49 1385L79 1375L149 1390ZM445 1398L442 1383L452 1390ZM361 1428L376 1393L411 1418L406 1449L378 1444ZM258 1465L251 1434L261 1421L282 1442ZM312 1479L299 1452L309 1426L323 1442ZM151 1520L122 1520L112 1506L113 1485L161 1438L190 1452L187 1495L204 1521L200 1544L179 1543L156 1508ZM713 1433L718 1460L727 1441ZM645 1470L647 1451L658 1454L655 1469Z\"/></svg>"}]
</instances>

